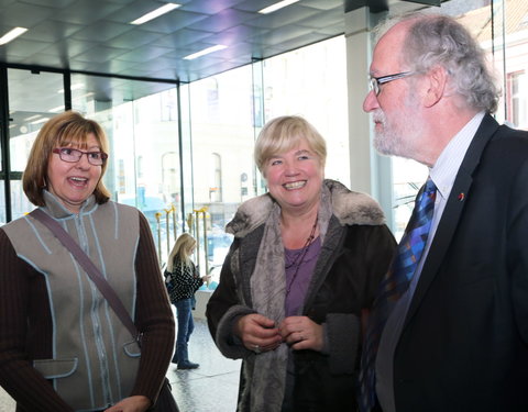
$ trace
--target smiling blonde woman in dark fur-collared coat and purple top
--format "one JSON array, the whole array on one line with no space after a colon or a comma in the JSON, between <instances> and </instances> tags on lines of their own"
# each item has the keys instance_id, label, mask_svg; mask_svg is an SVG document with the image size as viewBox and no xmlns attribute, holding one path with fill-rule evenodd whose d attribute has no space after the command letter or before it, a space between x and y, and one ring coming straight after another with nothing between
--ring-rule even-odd
<instances>
[{"instance_id":1,"label":"smiling blonde woman in dark fur-collared coat and purple top","mask_svg":"<svg viewBox=\"0 0 528 412\"><path fill-rule=\"evenodd\" d=\"M207 318L221 353L243 359L239 412L356 409L361 325L395 241L373 199L323 179L324 160L306 120L271 121L255 146L270 193L227 226Z\"/></svg>"}]
</instances>

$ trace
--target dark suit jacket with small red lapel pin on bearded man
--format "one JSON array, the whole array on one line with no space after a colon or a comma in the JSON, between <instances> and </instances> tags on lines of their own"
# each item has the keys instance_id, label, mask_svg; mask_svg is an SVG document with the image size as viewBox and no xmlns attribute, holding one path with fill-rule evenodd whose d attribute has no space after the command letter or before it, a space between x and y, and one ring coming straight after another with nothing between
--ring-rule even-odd
<instances>
[{"instance_id":1,"label":"dark suit jacket with small red lapel pin on bearded man","mask_svg":"<svg viewBox=\"0 0 528 412\"><path fill-rule=\"evenodd\" d=\"M394 363L398 412L528 411L528 132L485 115Z\"/></svg>"}]
</instances>

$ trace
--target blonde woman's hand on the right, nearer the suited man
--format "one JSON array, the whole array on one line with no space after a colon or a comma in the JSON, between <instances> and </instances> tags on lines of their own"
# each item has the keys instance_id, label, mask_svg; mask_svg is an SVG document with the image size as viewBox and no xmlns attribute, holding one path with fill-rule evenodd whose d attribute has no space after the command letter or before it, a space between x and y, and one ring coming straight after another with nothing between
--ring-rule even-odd
<instances>
[{"instance_id":1,"label":"blonde woman's hand on the right, nearer the suited man","mask_svg":"<svg viewBox=\"0 0 528 412\"><path fill-rule=\"evenodd\" d=\"M279 325L280 336L292 348L322 350L322 326L307 316L288 316Z\"/></svg>"}]
</instances>

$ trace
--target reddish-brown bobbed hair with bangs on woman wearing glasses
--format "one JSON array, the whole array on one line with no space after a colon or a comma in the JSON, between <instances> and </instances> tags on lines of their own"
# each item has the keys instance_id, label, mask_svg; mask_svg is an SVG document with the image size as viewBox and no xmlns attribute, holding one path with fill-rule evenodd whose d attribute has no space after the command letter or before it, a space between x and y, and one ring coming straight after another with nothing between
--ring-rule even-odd
<instances>
[{"instance_id":1,"label":"reddish-brown bobbed hair with bangs on woman wearing glasses","mask_svg":"<svg viewBox=\"0 0 528 412\"><path fill-rule=\"evenodd\" d=\"M65 147L72 143L78 143L86 148L88 134L96 136L102 152L108 154L108 138L102 127L94 120L85 119L80 113L67 111L50 119L38 132L31 148L28 165L22 176L22 187L30 201L43 207L43 190L47 185L47 166L52 151L56 147ZM97 182L94 194L96 201L101 204L110 199L110 192L102 182L102 176L107 170L108 163L101 166L101 177Z\"/></svg>"}]
</instances>

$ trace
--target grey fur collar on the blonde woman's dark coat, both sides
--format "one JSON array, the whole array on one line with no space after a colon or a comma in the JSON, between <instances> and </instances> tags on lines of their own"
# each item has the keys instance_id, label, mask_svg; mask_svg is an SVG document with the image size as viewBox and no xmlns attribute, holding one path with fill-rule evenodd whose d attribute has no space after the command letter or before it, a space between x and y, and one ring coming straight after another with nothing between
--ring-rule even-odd
<instances>
[{"instance_id":1,"label":"grey fur collar on the blonde woman's dark coat, both sides","mask_svg":"<svg viewBox=\"0 0 528 412\"><path fill-rule=\"evenodd\" d=\"M385 223L380 204L369 194L351 191L339 181L330 179L323 181L323 189L322 201L328 192L333 214L342 225ZM274 203L275 200L270 193L243 202L233 220L226 226L226 232L235 237L244 237L267 220Z\"/></svg>"}]
</instances>

